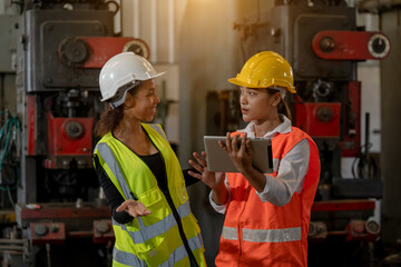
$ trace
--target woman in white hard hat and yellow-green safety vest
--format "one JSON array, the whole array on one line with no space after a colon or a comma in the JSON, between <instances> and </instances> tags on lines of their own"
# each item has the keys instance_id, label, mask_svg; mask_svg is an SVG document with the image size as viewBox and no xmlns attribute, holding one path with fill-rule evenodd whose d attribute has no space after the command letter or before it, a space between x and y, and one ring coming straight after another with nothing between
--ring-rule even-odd
<instances>
[{"instance_id":1,"label":"woman in white hard hat and yellow-green safety vest","mask_svg":"<svg viewBox=\"0 0 401 267\"><path fill-rule=\"evenodd\" d=\"M177 157L153 120L162 76L143 57L123 52L102 67L108 105L96 134L94 165L111 210L113 266L206 266Z\"/></svg>"}]
</instances>

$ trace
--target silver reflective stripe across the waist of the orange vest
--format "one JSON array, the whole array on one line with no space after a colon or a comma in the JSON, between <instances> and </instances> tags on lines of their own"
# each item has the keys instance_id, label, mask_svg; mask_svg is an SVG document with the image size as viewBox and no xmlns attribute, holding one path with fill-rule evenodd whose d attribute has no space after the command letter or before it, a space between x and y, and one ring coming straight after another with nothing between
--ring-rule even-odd
<instances>
[{"instance_id":1,"label":"silver reflective stripe across the waist of the orange vest","mask_svg":"<svg viewBox=\"0 0 401 267\"><path fill-rule=\"evenodd\" d=\"M224 239L237 240L237 230L233 227L223 227L222 237ZM255 243L285 243L299 241L302 237L302 228L283 228L283 229L243 229L244 241Z\"/></svg>"}]
</instances>

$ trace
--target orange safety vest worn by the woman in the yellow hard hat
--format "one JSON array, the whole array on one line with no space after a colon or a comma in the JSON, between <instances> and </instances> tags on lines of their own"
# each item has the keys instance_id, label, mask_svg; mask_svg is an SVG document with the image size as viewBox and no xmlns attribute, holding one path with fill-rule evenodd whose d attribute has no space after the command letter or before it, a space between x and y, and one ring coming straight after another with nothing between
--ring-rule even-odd
<instances>
[{"instance_id":1,"label":"orange safety vest worn by the woman in the yellow hard hat","mask_svg":"<svg viewBox=\"0 0 401 267\"><path fill-rule=\"evenodd\" d=\"M307 231L320 176L319 151L312 138L296 127L273 137L272 150L273 160L281 160L303 139L310 144L303 189L301 194L295 191L283 207L262 202L239 172L227 174L231 199L215 259L217 267L307 266ZM271 176L276 177L277 170Z\"/></svg>"}]
</instances>

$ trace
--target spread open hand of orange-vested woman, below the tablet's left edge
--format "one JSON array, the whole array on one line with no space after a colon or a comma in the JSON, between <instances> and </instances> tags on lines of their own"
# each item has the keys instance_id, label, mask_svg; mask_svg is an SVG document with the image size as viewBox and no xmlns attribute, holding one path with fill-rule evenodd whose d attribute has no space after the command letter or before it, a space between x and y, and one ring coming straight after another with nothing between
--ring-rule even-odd
<instances>
[{"instance_id":1,"label":"spread open hand of orange-vested woman, below the tablet's left edge","mask_svg":"<svg viewBox=\"0 0 401 267\"><path fill-rule=\"evenodd\" d=\"M205 160L206 159L206 152L203 151L202 157L197 152L194 152L193 156L194 156L194 158L196 159L197 162L189 159L189 165L192 167L194 167L200 174L197 174L197 172L194 172L194 171L190 171L190 170L188 171L188 174L192 177L195 177L195 178L202 180L206 186L211 187L212 189L216 189L219 186L222 186L223 182L224 182L225 172L208 171L207 164L206 164L206 160Z\"/></svg>"}]
</instances>

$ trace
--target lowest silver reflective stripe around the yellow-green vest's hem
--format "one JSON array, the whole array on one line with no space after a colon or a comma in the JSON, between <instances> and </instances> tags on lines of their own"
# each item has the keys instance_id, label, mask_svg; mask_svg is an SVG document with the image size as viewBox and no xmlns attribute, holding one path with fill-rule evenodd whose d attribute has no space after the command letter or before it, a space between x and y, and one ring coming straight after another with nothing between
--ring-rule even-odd
<instances>
[{"instance_id":1,"label":"lowest silver reflective stripe around the yellow-green vest's hem","mask_svg":"<svg viewBox=\"0 0 401 267\"><path fill-rule=\"evenodd\" d=\"M196 249L202 248L202 237L200 234L196 237L193 237L188 240L188 245L190 247L190 249L194 251ZM187 257L188 254L183 246L177 247L168 257L168 259L163 263L160 266L162 267L169 267L169 266L174 266L175 263L184 259L185 257ZM118 248L114 247L113 250L113 259L116 260L119 264L124 264L124 265L128 265L128 266L139 266L139 267L145 267L147 266L146 263L141 259L139 259L137 256L135 256L134 254L129 254L126 251L121 251Z\"/></svg>"}]
</instances>

